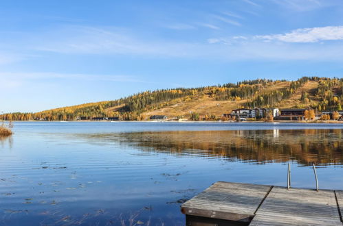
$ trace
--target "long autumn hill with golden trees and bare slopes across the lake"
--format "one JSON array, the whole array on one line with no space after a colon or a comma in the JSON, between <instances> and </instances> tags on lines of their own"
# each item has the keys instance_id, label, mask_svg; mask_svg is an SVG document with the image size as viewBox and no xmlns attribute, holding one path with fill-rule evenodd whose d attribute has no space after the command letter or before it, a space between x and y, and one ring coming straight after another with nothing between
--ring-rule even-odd
<instances>
[{"instance_id":1,"label":"long autumn hill with golden trees and bare slopes across the lake","mask_svg":"<svg viewBox=\"0 0 343 226\"><path fill-rule=\"evenodd\" d=\"M75 120L77 117L113 117L144 120L153 114L190 118L218 118L234 108L313 108L342 110L343 79L302 77L296 81L256 79L237 84L201 88L175 88L141 92L117 99L56 108L36 113L2 114L0 119L48 121Z\"/></svg>"}]
</instances>

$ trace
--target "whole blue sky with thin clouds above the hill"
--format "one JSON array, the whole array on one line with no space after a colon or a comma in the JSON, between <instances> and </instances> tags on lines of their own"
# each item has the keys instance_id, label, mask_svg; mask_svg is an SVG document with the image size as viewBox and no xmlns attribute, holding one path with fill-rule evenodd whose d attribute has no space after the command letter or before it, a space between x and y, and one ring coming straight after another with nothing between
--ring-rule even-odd
<instances>
[{"instance_id":1,"label":"whole blue sky with thin clouds above the hill","mask_svg":"<svg viewBox=\"0 0 343 226\"><path fill-rule=\"evenodd\" d=\"M343 77L343 1L0 1L0 112Z\"/></svg>"}]
</instances>

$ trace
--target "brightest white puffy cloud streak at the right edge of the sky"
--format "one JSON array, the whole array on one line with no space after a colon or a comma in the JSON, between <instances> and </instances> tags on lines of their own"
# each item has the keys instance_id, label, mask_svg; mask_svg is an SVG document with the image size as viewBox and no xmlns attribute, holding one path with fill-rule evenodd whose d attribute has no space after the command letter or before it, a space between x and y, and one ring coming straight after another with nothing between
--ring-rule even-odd
<instances>
[{"instance_id":1,"label":"brightest white puffy cloud streak at the right edge of the sky","mask_svg":"<svg viewBox=\"0 0 343 226\"><path fill-rule=\"evenodd\" d=\"M263 40L279 40L282 42L320 42L324 40L343 40L343 26L302 28L286 34L254 36L254 38Z\"/></svg>"}]
</instances>

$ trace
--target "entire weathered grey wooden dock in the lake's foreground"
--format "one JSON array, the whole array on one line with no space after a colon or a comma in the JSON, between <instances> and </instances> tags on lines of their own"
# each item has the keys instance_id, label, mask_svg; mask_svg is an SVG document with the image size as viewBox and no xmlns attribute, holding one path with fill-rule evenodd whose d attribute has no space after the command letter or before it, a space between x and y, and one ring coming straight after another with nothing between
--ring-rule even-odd
<instances>
[{"instance_id":1,"label":"entire weathered grey wooden dock in the lake's foreground","mask_svg":"<svg viewBox=\"0 0 343 226\"><path fill-rule=\"evenodd\" d=\"M343 225L343 191L219 181L181 205L186 225Z\"/></svg>"}]
</instances>

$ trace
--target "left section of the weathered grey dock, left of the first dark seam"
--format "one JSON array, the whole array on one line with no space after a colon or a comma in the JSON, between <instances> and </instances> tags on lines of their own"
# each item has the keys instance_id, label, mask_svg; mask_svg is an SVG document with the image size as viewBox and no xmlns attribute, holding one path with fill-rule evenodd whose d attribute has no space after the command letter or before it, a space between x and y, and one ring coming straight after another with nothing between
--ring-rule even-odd
<instances>
[{"instance_id":1,"label":"left section of the weathered grey dock, left of the first dark seam","mask_svg":"<svg viewBox=\"0 0 343 226\"><path fill-rule=\"evenodd\" d=\"M181 212L230 221L250 222L272 186L219 181L181 206Z\"/></svg>"}]
</instances>

